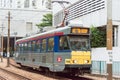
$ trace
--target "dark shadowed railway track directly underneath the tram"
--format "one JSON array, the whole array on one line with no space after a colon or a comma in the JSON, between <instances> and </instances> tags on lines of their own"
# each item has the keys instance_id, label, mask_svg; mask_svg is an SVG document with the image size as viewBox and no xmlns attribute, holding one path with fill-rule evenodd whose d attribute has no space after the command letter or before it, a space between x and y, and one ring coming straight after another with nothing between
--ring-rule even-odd
<instances>
[{"instance_id":1,"label":"dark shadowed railway track directly underneath the tram","mask_svg":"<svg viewBox=\"0 0 120 80\"><path fill-rule=\"evenodd\" d=\"M39 75L44 75L44 76L47 76L47 77L51 77L51 78L54 78L54 79L57 79L57 80L93 80L93 79L90 79L90 78L85 78L85 77L78 77L78 76L70 76L69 74L64 74L64 73L58 73L58 74L54 74L54 73L46 73L46 72L41 72L41 71L38 71L38 70L34 70L32 68L22 68L22 67L19 67L15 64L11 64L12 66L18 68L18 69L22 69L22 70L26 70L26 71L29 71L29 72L32 72L32 73L37 73Z\"/></svg>"}]
</instances>

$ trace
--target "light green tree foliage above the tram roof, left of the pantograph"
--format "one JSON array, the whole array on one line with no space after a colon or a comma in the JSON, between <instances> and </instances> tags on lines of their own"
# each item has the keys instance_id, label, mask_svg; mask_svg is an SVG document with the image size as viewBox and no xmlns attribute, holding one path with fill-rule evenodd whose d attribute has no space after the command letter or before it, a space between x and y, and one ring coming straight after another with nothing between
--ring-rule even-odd
<instances>
[{"instance_id":1,"label":"light green tree foliage above the tram roof, left of the pantograph","mask_svg":"<svg viewBox=\"0 0 120 80\"><path fill-rule=\"evenodd\" d=\"M42 23L36 24L38 28L52 26L52 14L43 15Z\"/></svg>"}]
</instances>

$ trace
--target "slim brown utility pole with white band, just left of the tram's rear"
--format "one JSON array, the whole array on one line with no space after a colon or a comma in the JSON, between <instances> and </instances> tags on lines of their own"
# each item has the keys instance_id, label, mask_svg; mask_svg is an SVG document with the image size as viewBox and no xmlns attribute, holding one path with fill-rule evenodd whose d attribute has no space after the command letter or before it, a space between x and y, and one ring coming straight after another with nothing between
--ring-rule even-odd
<instances>
[{"instance_id":1,"label":"slim brown utility pole with white band, just left of the tram's rear","mask_svg":"<svg viewBox=\"0 0 120 80\"><path fill-rule=\"evenodd\" d=\"M10 66L10 11L8 12L7 67Z\"/></svg>"}]
</instances>

